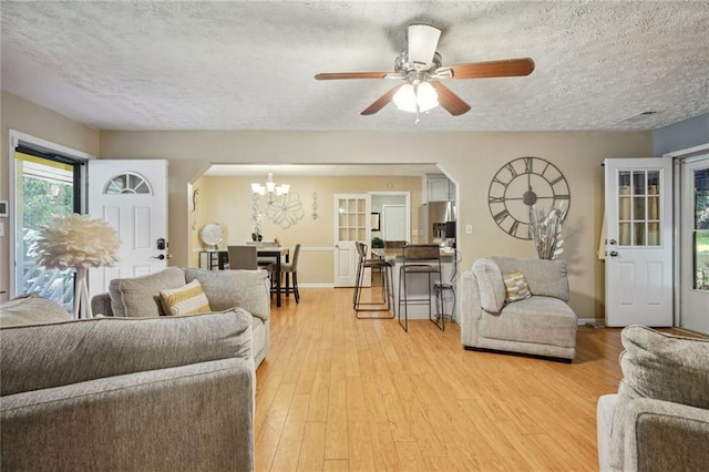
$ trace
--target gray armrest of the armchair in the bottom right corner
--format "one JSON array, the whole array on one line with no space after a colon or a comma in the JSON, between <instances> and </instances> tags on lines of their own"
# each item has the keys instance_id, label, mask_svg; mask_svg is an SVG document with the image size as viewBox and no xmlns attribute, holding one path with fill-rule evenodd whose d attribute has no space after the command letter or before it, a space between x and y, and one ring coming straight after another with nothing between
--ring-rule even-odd
<instances>
[{"instance_id":1,"label":"gray armrest of the armchair in the bottom right corner","mask_svg":"<svg viewBox=\"0 0 709 472\"><path fill-rule=\"evenodd\" d=\"M624 470L698 471L709 464L709 410L640 398L623 423Z\"/></svg>"}]
</instances>

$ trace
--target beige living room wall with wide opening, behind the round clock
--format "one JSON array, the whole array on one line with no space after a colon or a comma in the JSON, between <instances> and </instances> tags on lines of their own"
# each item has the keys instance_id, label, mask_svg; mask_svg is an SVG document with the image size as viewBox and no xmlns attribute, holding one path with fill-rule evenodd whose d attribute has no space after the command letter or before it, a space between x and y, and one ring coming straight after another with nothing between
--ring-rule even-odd
<instances>
[{"instance_id":1,"label":"beige living room wall with wide opening, behind the round clock","mask_svg":"<svg viewBox=\"0 0 709 472\"><path fill-rule=\"evenodd\" d=\"M7 96L3 92L4 160L0 195L7 197L8 127L20 127L18 131L95 154L93 130ZM424 127L411 133L102 131L97 154L102 158L168 160L173 265L187 265L191 260L189 184L194 184L210 163L438 163L458 184L460 228L473 225L473 234L460 235L463 269L484 255L534 256L530 242L506 236L494 224L486 194L492 176L507 161L521 156L543 157L565 174L572 193L569 235L563 255L569 266L572 306L582 318L602 317L604 266L596 259L604 199L600 164L606 157L653 155L651 132L425 133L421 130ZM308 202L308 195L302 195L302 199ZM2 257L7 261L7 238L2 238Z\"/></svg>"}]
</instances>

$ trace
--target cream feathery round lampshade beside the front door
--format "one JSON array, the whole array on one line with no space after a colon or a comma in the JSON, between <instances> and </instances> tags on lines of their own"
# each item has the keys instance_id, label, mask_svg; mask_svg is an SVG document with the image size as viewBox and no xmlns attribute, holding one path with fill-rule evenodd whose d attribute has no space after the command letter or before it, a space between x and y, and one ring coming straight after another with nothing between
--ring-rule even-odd
<instances>
[{"instance_id":1,"label":"cream feathery round lampshade beside the front door","mask_svg":"<svg viewBox=\"0 0 709 472\"><path fill-rule=\"evenodd\" d=\"M121 240L115 229L88 215L55 216L40 229L32 253L48 269L112 266L119 260Z\"/></svg>"}]
</instances>

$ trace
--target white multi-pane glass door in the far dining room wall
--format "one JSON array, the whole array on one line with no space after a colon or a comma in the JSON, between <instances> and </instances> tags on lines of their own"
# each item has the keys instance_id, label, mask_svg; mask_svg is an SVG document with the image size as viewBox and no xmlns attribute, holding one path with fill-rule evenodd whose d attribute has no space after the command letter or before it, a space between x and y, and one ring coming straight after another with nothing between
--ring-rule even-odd
<instances>
[{"instance_id":1,"label":"white multi-pane glass door in the far dining room wall","mask_svg":"<svg viewBox=\"0 0 709 472\"><path fill-rule=\"evenodd\" d=\"M371 197L368 194L335 195L335 287L353 287L358 255L354 243L369 246Z\"/></svg>"}]
</instances>

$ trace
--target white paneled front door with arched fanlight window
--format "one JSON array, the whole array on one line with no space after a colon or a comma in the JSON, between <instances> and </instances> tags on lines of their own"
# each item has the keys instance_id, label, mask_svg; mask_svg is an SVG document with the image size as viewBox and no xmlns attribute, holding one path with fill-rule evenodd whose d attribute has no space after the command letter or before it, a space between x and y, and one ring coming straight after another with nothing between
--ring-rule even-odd
<instances>
[{"instance_id":1,"label":"white paneled front door with arched fanlight window","mask_svg":"<svg viewBox=\"0 0 709 472\"><path fill-rule=\"evenodd\" d=\"M160 271L167 266L167 161L89 163L89 214L119 232L113 267L91 269L90 296L105 293L119 277Z\"/></svg>"}]
</instances>

